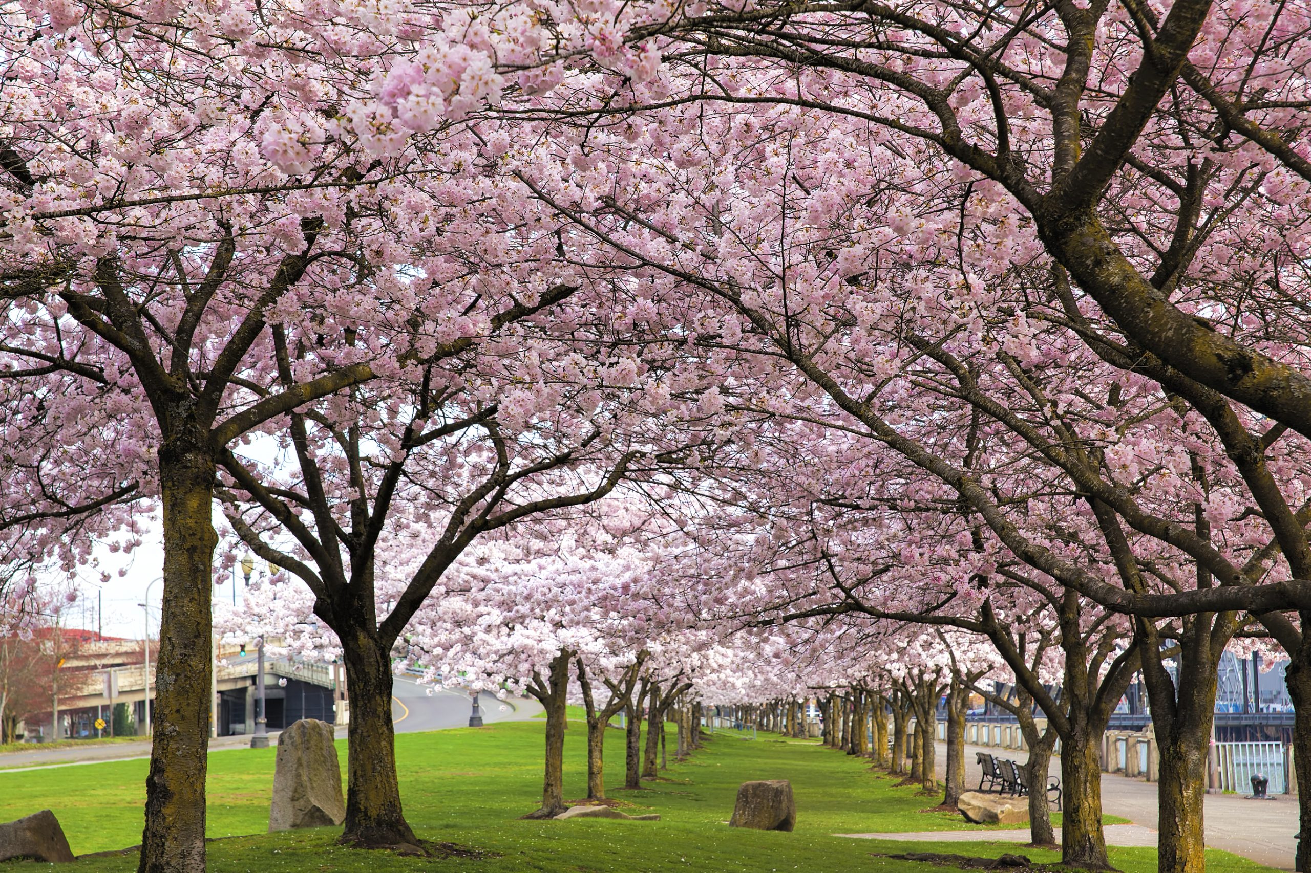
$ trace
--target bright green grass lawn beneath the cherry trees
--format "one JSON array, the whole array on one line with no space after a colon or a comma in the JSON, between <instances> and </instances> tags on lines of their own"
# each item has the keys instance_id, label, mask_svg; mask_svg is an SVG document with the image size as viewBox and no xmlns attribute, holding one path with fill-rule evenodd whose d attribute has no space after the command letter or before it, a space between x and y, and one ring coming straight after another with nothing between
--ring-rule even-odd
<instances>
[{"instance_id":1,"label":"bright green grass lawn beneath the cherry trees","mask_svg":"<svg viewBox=\"0 0 1311 873\"><path fill-rule=\"evenodd\" d=\"M566 798L586 794L585 731L566 738ZM884 832L969 827L943 814L922 813L937 798L897 788L869 772L867 762L808 742L712 739L696 756L667 771L667 779L638 792L612 789L632 813L654 811L659 822L524 822L541 794L543 725L502 724L482 729L400 734L396 741L405 810L425 839L459 843L485 853L471 859L406 859L391 852L334 847L340 828L265 834L269 823L274 748L224 750L210 756L210 870L215 873L459 869L476 873L666 870L878 870L935 873L940 868L874 857L881 852L945 851L994 856L1021 851L1034 861L1054 852L1000 843L895 843L835 838L840 832ZM674 738L669 738L674 748ZM345 743L340 745L345 763ZM623 781L623 731L607 734L611 785ZM114 762L0 773L0 821L50 807L73 852L119 849L140 840L147 762ZM797 830L792 834L725 826L739 783L792 780ZM987 831L981 830L981 839ZM1152 849L1113 849L1126 873L1155 870ZM1264 870L1244 859L1210 852L1214 873ZM14 869L28 869L18 864ZM45 866L45 865L43 865ZM87 859L67 869L135 870L135 853ZM49 869L49 868L47 868Z\"/></svg>"}]
</instances>

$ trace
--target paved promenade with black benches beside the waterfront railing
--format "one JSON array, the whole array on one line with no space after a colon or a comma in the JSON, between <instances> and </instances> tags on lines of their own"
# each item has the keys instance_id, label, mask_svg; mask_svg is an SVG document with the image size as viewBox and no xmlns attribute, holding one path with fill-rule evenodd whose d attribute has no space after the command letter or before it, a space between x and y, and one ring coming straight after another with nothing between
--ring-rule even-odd
<instances>
[{"instance_id":1,"label":"paved promenade with black benches beside the waterfront railing","mask_svg":"<svg viewBox=\"0 0 1311 873\"><path fill-rule=\"evenodd\" d=\"M979 784L982 771L975 752L998 758L1011 758L1024 763L1028 752L1017 748L965 746L965 784ZM937 743L935 759L939 779L947 777L947 743ZM1051 775L1061 775L1061 759L1051 758ZM1125 779L1116 773L1101 775L1101 807L1112 815L1121 815L1156 830L1156 783ZM1239 794L1207 794L1203 801L1206 817L1206 845L1252 859L1257 864L1285 870L1293 869L1298 832L1298 804L1291 794L1277 794L1274 800L1253 801Z\"/></svg>"}]
</instances>

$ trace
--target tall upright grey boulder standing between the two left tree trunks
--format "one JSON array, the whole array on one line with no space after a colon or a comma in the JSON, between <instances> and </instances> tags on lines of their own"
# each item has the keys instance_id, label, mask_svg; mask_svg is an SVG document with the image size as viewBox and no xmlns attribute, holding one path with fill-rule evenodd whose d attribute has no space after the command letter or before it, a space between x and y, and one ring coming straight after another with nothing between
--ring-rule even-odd
<instances>
[{"instance_id":1,"label":"tall upright grey boulder standing between the two left tree trunks","mask_svg":"<svg viewBox=\"0 0 1311 873\"><path fill-rule=\"evenodd\" d=\"M269 830L324 827L343 821L346 804L332 725L317 718L292 722L278 737Z\"/></svg>"}]
</instances>

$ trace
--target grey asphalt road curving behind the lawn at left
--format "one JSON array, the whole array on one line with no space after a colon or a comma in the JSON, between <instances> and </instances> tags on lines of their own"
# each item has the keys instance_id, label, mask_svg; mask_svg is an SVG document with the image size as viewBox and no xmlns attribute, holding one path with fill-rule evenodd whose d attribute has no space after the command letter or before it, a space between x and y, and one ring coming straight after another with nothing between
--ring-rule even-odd
<instances>
[{"instance_id":1,"label":"grey asphalt road curving behind the lawn at left","mask_svg":"<svg viewBox=\"0 0 1311 873\"><path fill-rule=\"evenodd\" d=\"M482 692L479 696L482 709L482 722L522 721L541 712L536 700L510 697L497 700L496 695ZM417 733L423 730L443 730L446 728L467 728L473 708L467 691L434 689L421 686L409 676L397 676L392 688L392 722L397 733ZM277 745L278 731L270 731L270 745ZM346 735L345 728L337 729L338 737ZM219 737L210 741L210 751L229 748L249 748L250 737ZM0 752L0 775L5 772L35 769L43 767L76 767L104 760L136 760L149 758L149 741L111 743L105 746L85 745L42 751L39 745L31 750Z\"/></svg>"}]
</instances>

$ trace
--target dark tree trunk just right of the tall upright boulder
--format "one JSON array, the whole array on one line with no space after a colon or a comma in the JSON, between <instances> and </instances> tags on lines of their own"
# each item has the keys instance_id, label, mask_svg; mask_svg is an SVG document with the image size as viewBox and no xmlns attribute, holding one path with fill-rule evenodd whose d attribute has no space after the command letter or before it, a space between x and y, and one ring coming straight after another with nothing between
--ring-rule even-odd
<instances>
[{"instance_id":1,"label":"dark tree trunk just right of the tall upright boulder","mask_svg":"<svg viewBox=\"0 0 1311 873\"><path fill-rule=\"evenodd\" d=\"M340 842L355 848L418 845L405 822L396 776L391 651L364 627L342 628L338 636L350 688L346 827Z\"/></svg>"}]
</instances>

